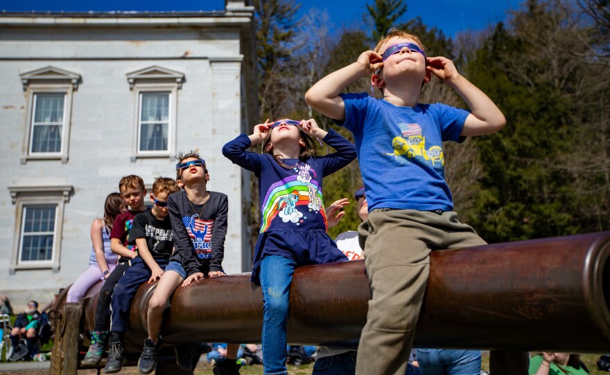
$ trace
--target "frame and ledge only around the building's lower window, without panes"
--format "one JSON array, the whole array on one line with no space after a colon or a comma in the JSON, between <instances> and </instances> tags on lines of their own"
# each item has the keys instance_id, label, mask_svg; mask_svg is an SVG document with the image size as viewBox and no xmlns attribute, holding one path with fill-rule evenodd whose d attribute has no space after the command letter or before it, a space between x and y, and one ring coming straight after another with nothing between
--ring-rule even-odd
<instances>
[{"instance_id":1,"label":"frame and ledge only around the building's lower window, without panes","mask_svg":"<svg viewBox=\"0 0 610 375\"><path fill-rule=\"evenodd\" d=\"M12 242L11 262L8 267L9 274L18 270L60 269L60 255L62 248L62 232L64 221L64 205L70 201L73 186L9 186L12 203L16 205L15 231ZM55 235L53 236L53 255L50 260L21 262L21 237L24 221L24 208L26 205L56 205Z\"/></svg>"}]
</instances>

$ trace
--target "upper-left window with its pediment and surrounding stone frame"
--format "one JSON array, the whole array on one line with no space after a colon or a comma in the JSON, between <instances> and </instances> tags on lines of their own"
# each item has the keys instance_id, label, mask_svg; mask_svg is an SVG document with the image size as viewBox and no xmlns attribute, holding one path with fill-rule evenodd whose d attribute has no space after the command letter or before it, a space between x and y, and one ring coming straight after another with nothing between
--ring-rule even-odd
<instances>
[{"instance_id":1,"label":"upper-left window with its pediment and surrounding stone frame","mask_svg":"<svg viewBox=\"0 0 610 375\"><path fill-rule=\"evenodd\" d=\"M46 66L20 77L28 102L21 164L40 159L67 163L72 95L80 75Z\"/></svg>"}]
</instances>

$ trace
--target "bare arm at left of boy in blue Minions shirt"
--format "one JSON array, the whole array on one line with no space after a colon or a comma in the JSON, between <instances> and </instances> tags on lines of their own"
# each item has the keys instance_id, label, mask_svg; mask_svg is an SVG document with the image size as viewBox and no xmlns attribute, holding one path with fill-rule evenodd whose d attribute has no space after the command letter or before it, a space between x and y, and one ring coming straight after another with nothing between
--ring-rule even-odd
<instances>
[{"instance_id":1,"label":"bare arm at left of boy in blue Minions shirt","mask_svg":"<svg viewBox=\"0 0 610 375\"><path fill-rule=\"evenodd\" d=\"M324 116L345 120L345 104L339 94L352 82L372 75L382 66L381 55L375 51L363 52L353 64L326 75L311 86L305 93L305 101Z\"/></svg>"}]
</instances>

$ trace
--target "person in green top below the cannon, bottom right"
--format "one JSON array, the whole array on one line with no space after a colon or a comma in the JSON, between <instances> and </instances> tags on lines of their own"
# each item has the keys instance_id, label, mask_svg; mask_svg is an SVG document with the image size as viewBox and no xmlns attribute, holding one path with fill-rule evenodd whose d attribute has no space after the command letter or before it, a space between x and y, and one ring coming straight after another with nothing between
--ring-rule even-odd
<instances>
[{"instance_id":1,"label":"person in green top below the cannon, bottom right","mask_svg":"<svg viewBox=\"0 0 610 375\"><path fill-rule=\"evenodd\" d=\"M530 358L530 375L586 375L589 369L579 354L540 353Z\"/></svg>"}]
</instances>

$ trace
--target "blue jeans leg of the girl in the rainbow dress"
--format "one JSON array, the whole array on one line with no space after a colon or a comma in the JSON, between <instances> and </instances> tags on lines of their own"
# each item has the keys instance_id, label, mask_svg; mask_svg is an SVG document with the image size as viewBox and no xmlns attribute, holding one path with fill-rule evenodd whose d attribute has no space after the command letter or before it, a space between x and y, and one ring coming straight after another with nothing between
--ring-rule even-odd
<instances>
[{"instance_id":1,"label":"blue jeans leg of the girl in the rainbow dress","mask_svg":"<svg viewBox=\"0 0 610 375\"><path fill-rule=\"evenodd\" d=\"M268 255L261 262L263 291L263 374L288 374L286 321L290 283L297 264L286 257Z\"/></svg>"}]
</instances>

